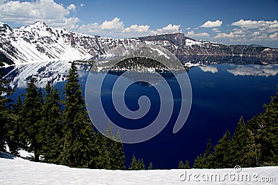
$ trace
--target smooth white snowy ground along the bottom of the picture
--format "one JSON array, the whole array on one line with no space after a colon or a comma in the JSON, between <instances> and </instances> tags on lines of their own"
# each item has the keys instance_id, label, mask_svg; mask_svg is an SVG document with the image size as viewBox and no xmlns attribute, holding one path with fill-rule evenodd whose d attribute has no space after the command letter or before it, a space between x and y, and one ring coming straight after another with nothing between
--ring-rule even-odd
<instances>
[{"instance_id":1,"label":"smooth white snowy ground along the bottom of the picture","mask_svg":"<svg viewBox=\"0 0 278 185\"><path fill-rule=\"evenodd\" d=\"M241 170L241 171L240 171ZM1 152L0 184L276 184L278 166L190 170L92 170Z\"/></svg>"}]
</instances>

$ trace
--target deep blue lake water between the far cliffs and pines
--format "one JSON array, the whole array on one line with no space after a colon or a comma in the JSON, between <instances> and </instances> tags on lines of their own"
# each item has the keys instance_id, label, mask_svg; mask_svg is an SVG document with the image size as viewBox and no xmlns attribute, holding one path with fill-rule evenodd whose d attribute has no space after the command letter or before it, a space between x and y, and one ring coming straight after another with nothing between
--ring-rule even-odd
<instances>
[{"instance_id":1,"label":"deep blue lake water between the far cliffs and pines","mask_svg":"<svg viewBox=\"0 0 278 185\"><path fill-rule=\"evenodd\" d=\"M124 144L126 168L129 167L132 155L142 158L145 166L152 161L154 168L177 168L179 161L189 160L193 165L194 159L206 149L206 143L211 138L213 145L229 130L234 133L238 119L244 116L245 121L263 111L263 104L269 103L270 96L275 95L278 84L278 66L236 66L230 64L211 65L209 67L193 67L188 71L192 91L193 104L190 114L181 130L172 133L175 109L179 106L179 94L174 104L174 113L170 123L162 132L148 141L136 144ZM204 72L206 71L206 72ZM117 75L111 74L106 78L103 89L111 89ZM85 85L86 77L80 78ZM178 91L174 78L167 78L172 91ZM56 87L63 91L65 82L58 82ZM12 98L24 93L24 89L17 89ZM110 112L112 119L120 120L120 125L126 128L145 127L147 121L152 121L159 109L158 94L154 87L138 82L131 85L124 96L126 106L131 110L138 109L138 98L142 95L150 96L152 107L145 120L131 125L129 120L120 118L113 109L111 94L101 95L106 112Z\"/></svg>"}]
</instances>

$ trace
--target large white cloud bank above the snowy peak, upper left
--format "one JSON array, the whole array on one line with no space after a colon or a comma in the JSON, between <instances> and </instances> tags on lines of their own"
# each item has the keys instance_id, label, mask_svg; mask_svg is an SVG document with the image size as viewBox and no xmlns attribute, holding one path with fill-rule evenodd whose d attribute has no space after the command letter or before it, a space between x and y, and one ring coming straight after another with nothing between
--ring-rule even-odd
<instances>
[{"instance_id":1,"label":"large white cloud bank above the snowy peak, upper left","mask_svg":"<svg viewBox=\"0 0 278 185\"><path fill-rule=\"evenodd\" d=\"M54 0L1 1L0 3L1 21L24 25L44 21L49 26L77 28L79 18L70 17L70 13L75 11L74 4L65 7Z\"/></svg>"}]
</instances>

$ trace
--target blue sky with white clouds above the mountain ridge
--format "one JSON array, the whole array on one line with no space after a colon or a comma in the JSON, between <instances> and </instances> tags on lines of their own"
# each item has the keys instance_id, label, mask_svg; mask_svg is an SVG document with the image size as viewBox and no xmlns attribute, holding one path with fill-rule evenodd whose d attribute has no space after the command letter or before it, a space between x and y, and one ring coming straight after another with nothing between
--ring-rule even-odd
<instances>
[{"instance_id":1,"label":"blue sky with white clouds above the mountain ridge","mask_svg":"<svg viewBox=\"0 0 278 185\"><path fill-rule=\"evenodd\" d=\"M44 21L104 37L138 37L182 32L220 44L278 48L277 0L0 0L0 21L11 27Z\"/></svg>"}]
</instances>

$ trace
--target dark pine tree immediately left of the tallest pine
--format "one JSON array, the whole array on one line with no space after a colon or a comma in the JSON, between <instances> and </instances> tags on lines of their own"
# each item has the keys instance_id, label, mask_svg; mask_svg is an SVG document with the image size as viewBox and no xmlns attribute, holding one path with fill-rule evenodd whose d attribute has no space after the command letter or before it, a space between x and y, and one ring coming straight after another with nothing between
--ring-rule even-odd
<instances>
[{"instance_id":1,"label":"dark pine tree immediately left of the tallest pine","mask_svg":"<svg viewBox=\"0 0 278 185\"><path fill-rule=\"evenodd\" d=\"M50 82L45 88L46 96L42 106L42 155L44 161L59 164L58 157L62 150L61 105L58 89L53 89Z\"/></svg>"}]
</instances>

